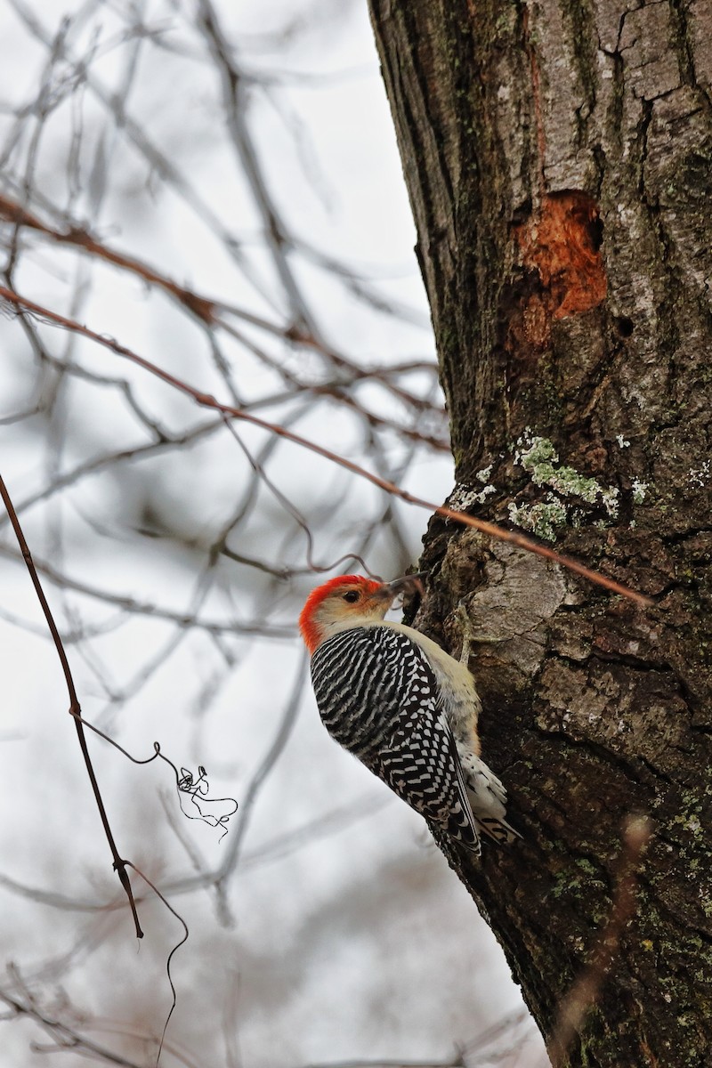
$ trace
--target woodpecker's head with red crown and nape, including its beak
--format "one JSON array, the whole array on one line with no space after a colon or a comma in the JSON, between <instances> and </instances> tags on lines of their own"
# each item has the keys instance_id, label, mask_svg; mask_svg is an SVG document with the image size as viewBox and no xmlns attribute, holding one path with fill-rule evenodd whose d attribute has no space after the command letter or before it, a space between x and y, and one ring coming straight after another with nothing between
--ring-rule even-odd
<instances>
[{"instance_id":1,"label":"woodpecker's head with red crown and nape, including its beak","mask_svg":"<svg viewBox=\"0 0 712 1068\"><path fill-rule=\"evenodd\" d=\"M407 575L394 582L376 582L362 575L342 575L317 586L306 598L299 629L310 653L342 630L378 623L398 594L423 588L421 577Z\"/></svg>"}]
</instances>

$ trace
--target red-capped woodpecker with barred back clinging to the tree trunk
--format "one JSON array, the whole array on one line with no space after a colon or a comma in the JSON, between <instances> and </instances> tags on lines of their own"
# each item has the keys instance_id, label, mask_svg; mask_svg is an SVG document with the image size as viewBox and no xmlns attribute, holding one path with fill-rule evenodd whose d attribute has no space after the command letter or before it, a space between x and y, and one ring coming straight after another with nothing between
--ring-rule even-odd
<instances>
[{"instance_id":1,"label":"red-capped woodpecker with barred back clinging to the tree trunk","mask_svg":"<svg viewBox=\"0 0 712 1068\"><path fill-rule=\"evenodd\" d=\"M521 837L507 791L480 759L481 705L466 663L384 619L412 576L346 575L313 590L299 617L312 685L329 734L412 808L476 855L480 832Z\"/></svg>"}]
</instances>

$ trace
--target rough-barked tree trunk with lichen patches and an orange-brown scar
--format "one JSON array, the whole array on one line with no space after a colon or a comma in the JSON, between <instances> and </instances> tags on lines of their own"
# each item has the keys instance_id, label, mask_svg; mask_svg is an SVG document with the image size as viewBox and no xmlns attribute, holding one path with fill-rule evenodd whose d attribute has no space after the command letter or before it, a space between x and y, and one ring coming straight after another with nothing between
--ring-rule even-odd
<instances>
[{"instance_id":1,"label":"rough-barked tree trunk with lichen patches and an orange-brown scar","mask_svg":"<svg viewBox=\"0 0 712 1068\"><path fill-rule=\"evenodd\" d=\"M448 504L642 609L433 519L416 625L475 639L524 841L450 857L544 1037L655 833L572 1065L712 1064L712 4L370 0L452 420Z\"/></svg>"}]
</instances>

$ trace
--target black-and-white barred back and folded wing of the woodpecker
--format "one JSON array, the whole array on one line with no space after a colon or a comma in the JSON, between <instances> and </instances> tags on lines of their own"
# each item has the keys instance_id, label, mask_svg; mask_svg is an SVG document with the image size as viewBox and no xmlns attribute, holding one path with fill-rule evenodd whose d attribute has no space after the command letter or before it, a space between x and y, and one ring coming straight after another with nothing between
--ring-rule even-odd
<instances>
[{"instance_id":1,"label":"black-and-white barred back and folded wing of the woodpecker","mask_svg":"<svg viewBox=\"0 0 712 1068\"><path fill-rule=\"evenodd\" d=\"M427 820L479 853L463 769L423 650L386 625L343 630L314 653L312 682L331 736Z\"/></svg>"}]
</instances>

